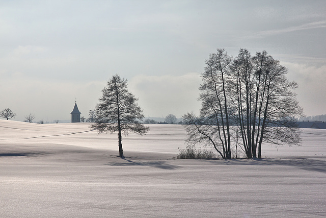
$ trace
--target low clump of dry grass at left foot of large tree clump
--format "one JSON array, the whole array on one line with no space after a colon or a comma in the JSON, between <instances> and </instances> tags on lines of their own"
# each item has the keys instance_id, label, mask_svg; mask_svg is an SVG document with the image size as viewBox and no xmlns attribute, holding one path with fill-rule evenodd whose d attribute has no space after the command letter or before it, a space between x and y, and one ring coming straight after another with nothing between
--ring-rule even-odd
<instances>
[{"instance_id":1,"label":"low clump of dry grass at left foot of large tree clump","mask_svg":"<svg viewBox=\"0 0 326 218\"><path fill-rule=\"evenodd\" d=\"M187 146L185 149L179 149L177 159L211 159L215 158L215 154L212 151L198 150L195 146Z\"/></svg>"}]
</instances>

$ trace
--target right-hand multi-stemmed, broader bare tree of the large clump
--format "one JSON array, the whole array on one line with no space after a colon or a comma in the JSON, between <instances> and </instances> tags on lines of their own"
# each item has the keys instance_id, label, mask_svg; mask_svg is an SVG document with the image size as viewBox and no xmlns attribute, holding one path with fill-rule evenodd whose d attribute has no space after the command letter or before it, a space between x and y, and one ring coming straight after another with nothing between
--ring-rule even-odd
<instances>
[{"instance_id":1,"label":"right-hand multi-stemmed, broader bare tree of the large clump","mask_svg":"<svg viewBox=\"0 0 326 218\"><path fill-rule=\"evenodd\" d=\"M300 144L296 118L303 109L293 90L297 83L286 78L287 68L278 60L257 52L251 57L241 49L232 66L231 92L237 102L237 131L242 136L242 148L247 157L261 158L262 143Z\"/></svg>"}]
</instances>

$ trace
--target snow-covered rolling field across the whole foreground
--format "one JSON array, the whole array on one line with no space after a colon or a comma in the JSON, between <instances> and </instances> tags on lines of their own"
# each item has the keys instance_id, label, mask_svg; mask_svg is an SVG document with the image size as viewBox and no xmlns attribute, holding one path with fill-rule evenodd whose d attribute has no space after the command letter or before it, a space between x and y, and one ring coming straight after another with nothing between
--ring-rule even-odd
<instances>
[{"instance_id":1,"label":"snow-covered rolling field across the whole foreground","mask_svg":"<svg viewBox=\"0 0 326 218\"><path fill-rule=\"evenodd\" d=\"M326 217L326 130L261 160L176 160L183 127L149 126L121 159L86 123L0 120L0 217Z\"/></svg>"}]
</instances>

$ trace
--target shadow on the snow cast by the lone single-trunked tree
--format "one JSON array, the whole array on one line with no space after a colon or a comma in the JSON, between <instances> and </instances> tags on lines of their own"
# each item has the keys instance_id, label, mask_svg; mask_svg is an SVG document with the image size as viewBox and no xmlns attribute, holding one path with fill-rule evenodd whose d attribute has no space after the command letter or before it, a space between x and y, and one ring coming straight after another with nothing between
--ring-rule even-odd
<instances>
[{"instance_id":1,"label":"shadow on the snow cast by the lone single-trunked tree","mask_svg":"<svg viewBox=\"0 0 326 218\"><path fill-rule=\"evenodd\" d=\"M106 163L105 165L111 165L111 166L152 166L160 169L176 169L180 166L171 165L167 163L166 161L132 161L128 160L125 157L122 157L121 159L126 160L127 162L116 162L116 163Z\"/></svg>"}]
</instances>

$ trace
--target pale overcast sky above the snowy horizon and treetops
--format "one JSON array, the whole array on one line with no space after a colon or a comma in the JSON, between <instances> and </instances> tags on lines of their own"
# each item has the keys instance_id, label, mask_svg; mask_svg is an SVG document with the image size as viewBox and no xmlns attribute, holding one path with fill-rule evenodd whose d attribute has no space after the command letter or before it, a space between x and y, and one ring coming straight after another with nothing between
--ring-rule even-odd
<instances>
[{"instance_id":1,"label":"pale overcast sky above the snowy horizon and treetops","mask_svg":"<svg viewBox=\"0 0 326 218\"><path fill-rule=\"evenodd\" d=\"M326 114L326 1L0 1L0 110L24 120L95 108L112 75L145 117L199 113L200 73L218 48L266 50Z\"/></svg>"}]
</instances>

